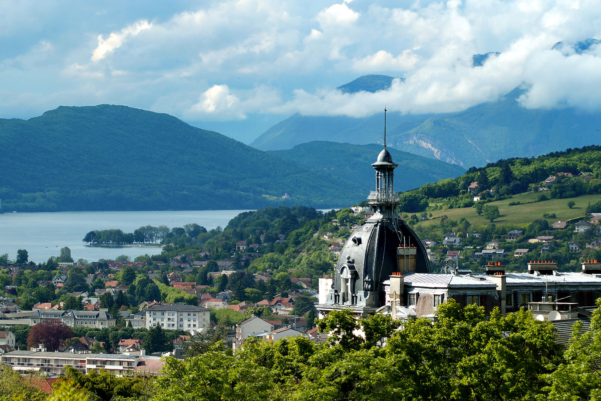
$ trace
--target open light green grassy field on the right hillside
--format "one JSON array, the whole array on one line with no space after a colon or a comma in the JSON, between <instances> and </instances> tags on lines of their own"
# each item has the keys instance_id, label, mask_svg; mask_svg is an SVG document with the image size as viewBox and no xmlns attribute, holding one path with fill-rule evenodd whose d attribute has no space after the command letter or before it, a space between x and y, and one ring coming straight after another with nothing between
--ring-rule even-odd
<instances>
[{"instance_id":1,"label":"open light green grassy field on the right hillside","mask_svg":"<svg viewBox=\"0 0 601 401\"><path fill-rule=\"evenodd\" d=\"M601 200L601 195L583 195L576 198L566 199L550 199L542 202L519 204L516 206L509 206L511 202L532 202L540 195L525 193L514 195L513 198L505 199L501 201L487 203L490 205L497 206L501 217L494 221L495 224L525 224L535 219L542 219L544 213L555 213L557 218L549 219L550 222L555 221L566 221L569 219L583 216L585 209L587 209L588 203L596 203ZM548 195L547 195L548 196ZM567 207L567 202L573 200L576 202L576 206L573 209ZM429 212L430 213L430 212ZM448 210L435 210L432 212L433 218L447 215L451 220L459 220L465 217L472 225L486 225L489 221L484 216L478 216L476 210L473 207L466 207L464 209L448 209ZM430 224L436 224L438 219L424 221L419 224L425 226Z\"/></svg>"}]
</instances>

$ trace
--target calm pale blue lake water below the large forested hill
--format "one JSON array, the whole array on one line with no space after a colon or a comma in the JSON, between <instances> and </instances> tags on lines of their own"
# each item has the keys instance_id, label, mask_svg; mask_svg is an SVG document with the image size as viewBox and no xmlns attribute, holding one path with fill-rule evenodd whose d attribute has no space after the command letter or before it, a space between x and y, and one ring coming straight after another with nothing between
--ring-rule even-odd
<instances>
[{"instance_id":1,"label":"calm pale blue lake water below the large forested hill","mask_svg":"<svg viewBox=\"0 0 601 401\"><path fill-rule=\"evenodd\" d=\"M166 225L169 228L197 223L211 230L228 222L246 210L183 210L150 212L53 212L4 213L0 215L0 254L16 259L17 249L26 249L29 260L46 262L50 256L59 256L63 246L69 246L73 260L88 262L115 259L120 255L132 258L160 253L160 246L100 248L87 246L82 241L89 231L120 228L133 233L142 225Z\"/></svg>"}]
</instances>

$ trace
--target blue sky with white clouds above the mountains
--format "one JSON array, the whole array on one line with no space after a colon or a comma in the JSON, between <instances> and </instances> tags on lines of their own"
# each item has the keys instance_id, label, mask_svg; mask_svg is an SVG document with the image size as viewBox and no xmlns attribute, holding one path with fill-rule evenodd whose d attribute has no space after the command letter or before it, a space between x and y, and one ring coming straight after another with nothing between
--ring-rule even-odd
<instances>
[{"instance_id":1,"label":"blue sky with white clouds above the mountains","mask_svg":"<svg viewBox=\"0 0 601 401\"><path fill-rule=\"evenodd\" d=\"M0 0L0 10L0 118L109 103L249 143L294 113L457 112L519 85L525 108L601 109L601 44L575 47L601 39L598 0ZM336 90L367 74L403 80Z\"/></svg>"}]
</instances>

